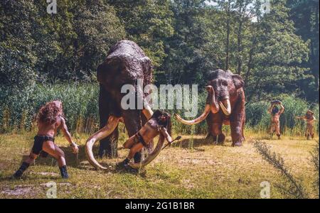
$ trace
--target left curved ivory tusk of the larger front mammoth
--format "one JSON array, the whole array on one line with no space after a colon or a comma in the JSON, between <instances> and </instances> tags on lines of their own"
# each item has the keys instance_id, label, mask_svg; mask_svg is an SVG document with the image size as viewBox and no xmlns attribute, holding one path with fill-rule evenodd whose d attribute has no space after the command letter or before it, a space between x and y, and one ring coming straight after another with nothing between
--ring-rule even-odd
<instances>
[{"instance_id":1,"label":"left curved ivory tusk of the larger front mammoth","mask_svg":"<svg viewBox=\"0 0 320 213\"><path fill-rule=\"evenodd\" d=\"M85 155L87 155L87 160L96 169L107 170L107 168L103 167L102 165L100 165L100 163L97 162L97 160L95 160L95 157L92 153L92 146L95 144L95 142L109 136L114 131L114 129L116 129L120 119L121 118L119 117L110 116L107 125L90 136L90 138L88 138L87 142L85 143Z\"/></svg>"}]
</instances>

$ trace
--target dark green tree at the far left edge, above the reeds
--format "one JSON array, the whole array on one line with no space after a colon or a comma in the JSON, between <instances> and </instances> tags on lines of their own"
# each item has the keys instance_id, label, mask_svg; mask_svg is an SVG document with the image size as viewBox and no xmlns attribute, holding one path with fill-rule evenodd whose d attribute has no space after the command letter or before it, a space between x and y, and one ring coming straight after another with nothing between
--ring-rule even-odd
<instances>
[{"instance_id":1,"label":"dark green tree at the far left edge, above the reeds","mask_svg":"<svg viewBox=\"0 0 320 213\"><path fill-rule=\"evenodd\" d=\"M37 54L33 28L37 9L28 1L0 2L0 87L15 92L36 80Z\"/></svg>"}]
</instances>

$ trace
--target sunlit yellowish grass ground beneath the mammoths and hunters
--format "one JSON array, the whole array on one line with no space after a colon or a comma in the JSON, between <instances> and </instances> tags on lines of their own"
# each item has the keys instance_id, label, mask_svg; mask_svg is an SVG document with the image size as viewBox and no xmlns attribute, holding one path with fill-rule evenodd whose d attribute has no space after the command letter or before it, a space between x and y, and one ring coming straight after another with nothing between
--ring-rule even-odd
<instances>
[{"instance_id":1,"label":"sunlit yellowish grass ground beneath the mammoths and hunters","mask_svg":"<svg viewBox=\"0 0 320 213\"><path fill-rule=\"evenodd\" d=\"M254 139L262 139L272 151L281 154L294 177L301 178L311 191L314 169L310 152L316 141L302 137L284 136L281 141L268 140L267 135L247 131L247 141L240 148L231 147L230 136L223 146L214 146L204 136L183 136L181 143L166 148L145 172L134 174L117 170L93 170L85 161L87 135L78 135L79 160L70 153L67 142L58 136L56 143L66 154L68 180L60 179L55 160L39 158L21 180L10 180L28 155L33 133L0 135L0 198L46 198L46 182L57 182L58 198L260 198L260 182L271 184L271 198L284 198L274 185L282 178L253 147ZM124 142L121 136L119 146ZM190 146L193 141L193 148ZM97 150L95 150L97 151ZM119 158L102 159L100 163L115 165L127 155L119 151ZM316 195L312 195L316 197ZM311 197L312 197L311 196Z\"/></svg>"}]
</instances>

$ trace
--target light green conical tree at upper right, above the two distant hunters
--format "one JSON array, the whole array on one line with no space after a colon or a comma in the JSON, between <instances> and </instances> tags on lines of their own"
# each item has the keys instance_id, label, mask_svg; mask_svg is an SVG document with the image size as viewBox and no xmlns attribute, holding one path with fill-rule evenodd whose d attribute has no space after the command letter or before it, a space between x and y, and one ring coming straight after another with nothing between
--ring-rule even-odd
<instances>
[{"instance_id":1,"label":"light green conical tree at upper right, above the two distant hunters","mask_svg":"<svg viewBox=\"0 0 320 213\"><path fill-rule=\"evenodd\" d=\"M302 62L308 60L308 43L295 34L285 1L271 1L271 5L270 13L257 17L259 28L255 28L252 74L246 82L250 94L247 101L299 92L297 81L306 75Z\"/></svg>"}]
</instances>

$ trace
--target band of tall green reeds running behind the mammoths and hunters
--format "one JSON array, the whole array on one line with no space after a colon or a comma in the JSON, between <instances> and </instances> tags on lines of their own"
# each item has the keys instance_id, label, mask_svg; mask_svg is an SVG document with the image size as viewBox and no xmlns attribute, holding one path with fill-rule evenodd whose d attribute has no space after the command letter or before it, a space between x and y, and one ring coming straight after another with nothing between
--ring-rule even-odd
<instances>
[{"instance_id":1,"label":"band of tall green reeds running behind the mammoths and hunters","mask_svg":"<svg viewBox=\"0 0 320 213\"><path fill-rule=\"evenodd\" d=\"M68 127L73 132L91 133L98 129L98 84L54 84L38 85L32 92L19 92L17 94L0 94L0 131L29 131L34 125L34 119L38 109L46 102L60 99L63 102L63 110ZM206 104L206 92L198 95L198 115ZM172 98L172 97L170 97ZM281 131L287 135L304 135L306 125L304 121L297 120L295 116L301 116L307 109L315 112L319 121L319 104L309 104L303 99L290 95L279 97L285 110L282 114ZM265 133L270 126L270 114L267 108L270 102L255 102L246 105L246 128L256 133ZM183 110L168 110L172 116L178 113L183 116ZM206 134L207 125L201 124L186 126L176 119L172 119L173 131L180 134ZM319 133L319 122L316 124L316 132ZM224 127L223 131L229 133L230 129Z\"/></svg>"}]
</instances>

